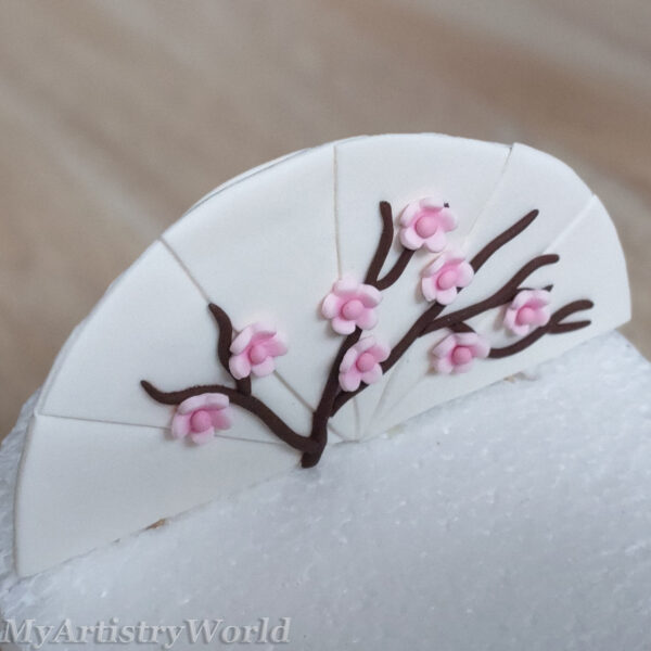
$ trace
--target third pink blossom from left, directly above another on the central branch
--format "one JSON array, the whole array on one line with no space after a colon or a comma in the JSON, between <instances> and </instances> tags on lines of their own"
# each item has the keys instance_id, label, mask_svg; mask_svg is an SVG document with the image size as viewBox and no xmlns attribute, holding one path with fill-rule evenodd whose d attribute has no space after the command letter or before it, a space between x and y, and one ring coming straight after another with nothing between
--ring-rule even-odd
<instances>
[{"instance_id":1,"label":"third pink blossom from left, directly above another on the central branch","mask_svg":"<svg viewBox=\"0 0 651 651\"><path fill-rule=\"evenodd\" d=\"M342 278L332 285L323 299L321 314L331 320L339 334L350 334L355 328L370 330L378 323L375 307L382 294L373 285L362 284L350 277Z\"/></svg>"}]
</instances>

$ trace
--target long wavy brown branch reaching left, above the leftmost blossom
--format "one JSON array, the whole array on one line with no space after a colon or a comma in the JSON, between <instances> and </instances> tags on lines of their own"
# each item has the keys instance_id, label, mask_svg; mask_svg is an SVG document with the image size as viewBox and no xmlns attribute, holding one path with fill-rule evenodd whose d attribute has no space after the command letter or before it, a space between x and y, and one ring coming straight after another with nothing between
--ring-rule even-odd
<instances>
[{"instance_id":1,"label":"long wavy brown branch reaching left, above the leftmost blossom","mask_svg":"<svg viewBox=\"0 0 651 651\"><path fill-rule=\"evenodd\" d=\"M318 449L318 443L311 441L307 436L302 436L292 430L275 411L272 411L265 403L255 398L252 395L244 395L238 388L224 386L221 384L210 384L204 386L192 386L183 391L163 392L156 388L151 382L143 380L142 388L154 399L162 405L178 406L183 400L200 396L206 393L219 393L228 396L231 404L242 407L253 416L263 421L271 432L286 443L289 446L301 452L315 452Z\"/></svg>"}]
</instances>

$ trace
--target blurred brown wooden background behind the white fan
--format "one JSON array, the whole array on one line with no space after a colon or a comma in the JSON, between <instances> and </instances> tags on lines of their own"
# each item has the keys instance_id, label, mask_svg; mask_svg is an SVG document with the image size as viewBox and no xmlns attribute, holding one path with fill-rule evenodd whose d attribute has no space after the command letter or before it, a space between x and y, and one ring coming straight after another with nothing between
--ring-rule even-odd
<instances>
[{"instance_id":1,"label":"blurred brown wooden background behind the white fan","mask_svg":"<svg viewBox=\"0 0 651 651\"><path fill-rule=\"evenodd\" d=\"M0 0L0 433L165 227L359 133L547 150L601 195L651 356L649 0Z\"/></svg>"}]
</instances>

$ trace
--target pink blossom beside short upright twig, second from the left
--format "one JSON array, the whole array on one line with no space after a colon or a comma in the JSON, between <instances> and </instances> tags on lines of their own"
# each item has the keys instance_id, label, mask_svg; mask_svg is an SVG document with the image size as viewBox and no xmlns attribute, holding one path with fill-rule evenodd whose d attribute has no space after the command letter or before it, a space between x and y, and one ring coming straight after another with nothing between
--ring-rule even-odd
<instances>
[{"instance_id":1,"label":"pink blossom beside short upright twig, second from the left","mask_svg":"<svg viewBox=\"0 0 651 651\"><path fill-rule=\"evenodd\" d=\"M233 340L228 362L230 372L237 380L269 375L276 370L276 357L288 352L286 343L276 328L256 322L247 326Z\"/></svg>"}]
</instances>

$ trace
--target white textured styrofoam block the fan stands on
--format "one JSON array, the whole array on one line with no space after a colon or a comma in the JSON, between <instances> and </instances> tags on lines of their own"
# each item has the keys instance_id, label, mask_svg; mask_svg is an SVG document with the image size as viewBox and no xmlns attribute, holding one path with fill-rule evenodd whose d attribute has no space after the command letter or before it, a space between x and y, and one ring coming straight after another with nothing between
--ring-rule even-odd
<instances>
[{"instance_id":1,"label":"white textured styrofoam block the fan stands on","mask_svg":"<svg viewBox=\"0 0 651 651\"><path fill-rule=\"evenodd\" d=\"M0 612L292 617L290 644L266 649L648 649L650 395L651 366L610 334L18 580L11 499L28 405L0 452Z\"/></svg>"}]
</instances>

